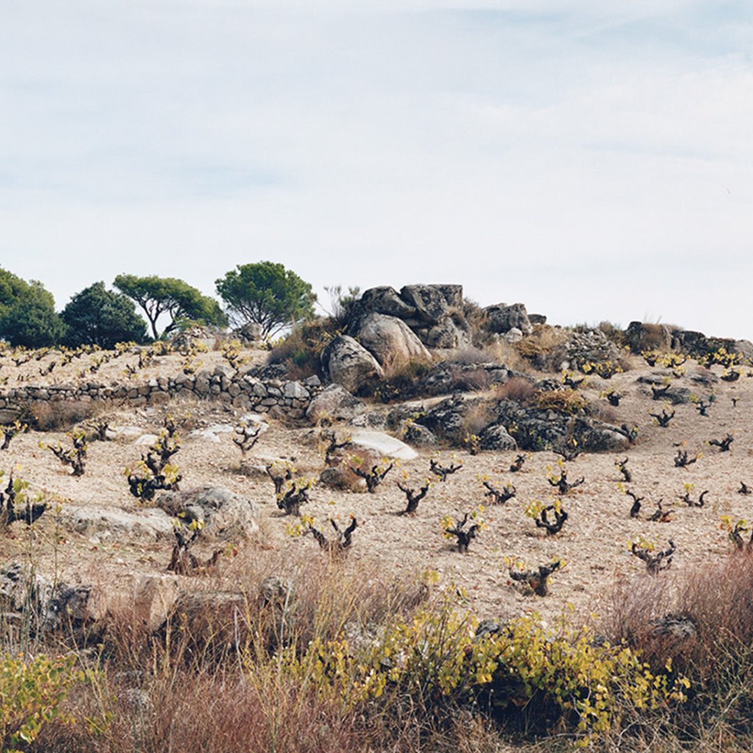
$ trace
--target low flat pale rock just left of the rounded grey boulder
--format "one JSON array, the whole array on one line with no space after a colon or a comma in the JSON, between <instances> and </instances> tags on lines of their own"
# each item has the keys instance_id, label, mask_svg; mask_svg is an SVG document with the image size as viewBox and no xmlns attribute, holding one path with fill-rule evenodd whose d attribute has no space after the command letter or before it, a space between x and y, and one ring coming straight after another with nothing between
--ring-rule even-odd
<instances>
[{"instance_id":1,"label":"low flat pale rock just left of the rounded grey boulder","mask_svg":"<svg viewBox=\"0 0 753 753\"><path fill-rule=\"evenodd\" d=\"M74 508L64 505L60 511L60 523L64 528L96 537L99 541L173 538L169 517L157 508L131 513L117 508Z\"/></svg>"}]
</instances>

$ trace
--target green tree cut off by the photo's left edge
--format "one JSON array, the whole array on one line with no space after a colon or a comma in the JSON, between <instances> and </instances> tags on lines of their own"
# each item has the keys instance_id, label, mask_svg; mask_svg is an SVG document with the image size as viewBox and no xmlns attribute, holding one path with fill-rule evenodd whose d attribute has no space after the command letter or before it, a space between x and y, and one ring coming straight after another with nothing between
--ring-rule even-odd
<instances>
[{"instance_id":1,"label":"green tree cut off by the photo's left edge","mask_svg":"<svg viewBox=\"0 0 753 753\"><path fill-rule=\"evenodd\" d=\"M0 337L13 346L41 348L59 343L64 332L50 291L0 268Z\"/></svg>"}]
</instances>

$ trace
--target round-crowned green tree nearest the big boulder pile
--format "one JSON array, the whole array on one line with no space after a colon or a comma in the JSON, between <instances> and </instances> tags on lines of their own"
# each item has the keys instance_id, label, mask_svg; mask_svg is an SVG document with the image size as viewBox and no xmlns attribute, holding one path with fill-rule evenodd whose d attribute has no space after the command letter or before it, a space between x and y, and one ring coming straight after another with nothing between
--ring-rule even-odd
<instances>
[{"instance_id":1,"label":"round-crowned green tree nearest the big boulder pile","mask_svg":"<svg viewBox=\"0 0 753 753\"><path fill-rule=\"evenodd\" d=\"M260 325L263 337L314 316L311 285L273 261L239 264L215 285L234 322Z\"/></svg>"}]
</instances>

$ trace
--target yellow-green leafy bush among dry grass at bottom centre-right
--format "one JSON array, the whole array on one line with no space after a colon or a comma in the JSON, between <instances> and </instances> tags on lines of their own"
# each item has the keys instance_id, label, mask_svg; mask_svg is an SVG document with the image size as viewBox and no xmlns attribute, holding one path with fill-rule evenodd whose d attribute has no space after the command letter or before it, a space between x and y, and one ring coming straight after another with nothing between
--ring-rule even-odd
<instances>
[{"instance_id":1,"label":"yellow-green leafy bush among dry grass at bottom centre-right","mask_svg":"<svg viewBox=\"0 0 753 753\"><path fill-rule=\"evenodd\" d=\"M429 715L471 704L501 716L526 706L530 715L538 712L539 724L553 715L572 721L581 746L627 715L685 699L689 683L672 675L671 663L651 672L626 645L598 642L565 617L556 631L538 616L518 617L478 639L476 626L447 599L410 620L394 620L365 651L353 651L344 638L314 639L282 663L297 681L306 678L322 698L339 699L347 709L410 699Z\"/></svg>"}]
</instances>

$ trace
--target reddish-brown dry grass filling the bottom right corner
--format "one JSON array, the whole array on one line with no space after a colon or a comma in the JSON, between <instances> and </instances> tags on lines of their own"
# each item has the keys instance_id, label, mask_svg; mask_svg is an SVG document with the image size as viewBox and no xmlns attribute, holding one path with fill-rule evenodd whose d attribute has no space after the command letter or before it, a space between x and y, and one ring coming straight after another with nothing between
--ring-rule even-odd
<instances>
[{"instance_id":1,"label":"reddish-brown dry grass filling the bottom right corner","mask_svg":"<svg viewBox=\"0 0 753 753\"><path fill-rule=\"evenodd\" d=\"M749 750L753 736L753 553L733 552L703 566L620 578L600 630L641 651L654 668L668 660L691 681L689 701L663 727L657 750ZM672 616L689 635L660 630Z\"/></svg>"}]
</instances>

